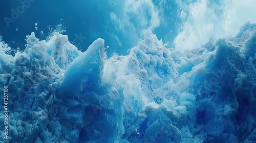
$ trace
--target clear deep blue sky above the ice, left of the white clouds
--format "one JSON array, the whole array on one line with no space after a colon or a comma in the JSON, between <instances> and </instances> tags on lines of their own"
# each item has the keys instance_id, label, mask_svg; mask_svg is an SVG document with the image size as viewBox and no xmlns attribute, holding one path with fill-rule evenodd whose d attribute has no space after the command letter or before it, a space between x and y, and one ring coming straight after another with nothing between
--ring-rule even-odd
<instances>
[{"instance_id":1,"label":"clear deep blue sky above the ice, left of the white clouds","mask_svg":"<svg viewBox=\"0 0 256 143\"><path fill-rule=\"evenodd\" d=\"M25 2L25 1L23 1ZM29 1L30 2L30 1ZM7 22L4 17L11 17L13 13L11 9L17 12L17 8L22 6L18 1L1 1L0 13L0 35L3 41L9 44L12 48L17 47L20 50L25 48L26 35L35 32L35 35L40 40L46 39L51 31L56 29L56 26L61 24L62 28L66 30L63 34L68 35L69 40L78 47L82 52L86 51L88 46L97 38L101 37L105 40L105 44L111 47L110 53L114 50L120 54L127 54L123 49L130 49L138 44L143 38L143 33L124 33L122 29L111 20L110 13L118 12L122 9L120 7L122 1L57 1L57 0L36 0L30 2L28 8L25 7L23 13L19 14L18 18L13 22ZM157 34L159 39L163 42L169 42L169 47L174 47L174 38L177 35L179 25L179 18L177 17L177 5L174 1L167 2L168 5L163 7L165 9L162 14L166 16L165 23L161 23L158 27L152 29ZM156 5L159 2L155 2ZM22 9L21 9L22 10ZM20 11L21 11L20 10ZM119 15L122 17L122 15ZM136 15L132 15L136 17ZM140 26L139 19L128 19L135 27L143 28ZM148 17L149 19L151 17ZM35 23L38 23L38 29L35 29ZM9 27L8 27L9 25ZM129 26L128 26L129 27ZM145 27L145 30L147 28ZM43 34L41 34L41 31ZM172 31L172 32L170 32ZM132 31L131 31L132 32ZM113 34L119 37L122 42L120 46ZM131 41L133 37L136 37ZM79 38L81 37L81 40ZM140 38L140 39L139 39ZM78 39L78 40L76 40ZM122 49L122 50L120 50Z\"/></svg>"}]
</instances>

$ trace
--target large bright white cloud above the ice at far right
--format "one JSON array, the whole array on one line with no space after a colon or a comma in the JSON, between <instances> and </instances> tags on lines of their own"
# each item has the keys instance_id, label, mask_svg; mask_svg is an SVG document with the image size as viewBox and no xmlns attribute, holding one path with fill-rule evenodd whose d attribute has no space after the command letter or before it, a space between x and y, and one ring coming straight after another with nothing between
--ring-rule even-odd
<instances>
[{"instance_id":1,"label":"large bright white cloud above the ice at far right","mask_svg":"<svg viewBox=\"0 0 256 143\"><path fill-rule=\"evenodd\" d=\"M256 22L256 3L254 0L208 1L198 0L194 3L177 1L183 20L180 32L175 38L175 47L191 50L209 40L220 37L235 36L243 23Z\"/></svg>"}]
</instances>

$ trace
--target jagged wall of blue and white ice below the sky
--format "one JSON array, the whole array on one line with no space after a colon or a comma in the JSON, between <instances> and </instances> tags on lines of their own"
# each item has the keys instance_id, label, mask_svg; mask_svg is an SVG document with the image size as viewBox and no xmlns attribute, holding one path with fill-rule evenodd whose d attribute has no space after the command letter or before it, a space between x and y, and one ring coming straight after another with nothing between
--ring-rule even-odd
<instances>
[{"instance_id":1,"label":"jagged wall of blue and white ice below the sky","mask_svg":"<svg viewBox=\"0 0 256 143\"><path fill-rule=\"evenodd\" d=\"M126 56L101 38L84 53L66 35L26 40L15 56L0 43L11 142L256 141L256 24L187 52L150 30Z\"/></svg>"}]
</instances>

